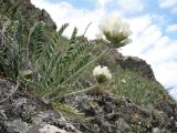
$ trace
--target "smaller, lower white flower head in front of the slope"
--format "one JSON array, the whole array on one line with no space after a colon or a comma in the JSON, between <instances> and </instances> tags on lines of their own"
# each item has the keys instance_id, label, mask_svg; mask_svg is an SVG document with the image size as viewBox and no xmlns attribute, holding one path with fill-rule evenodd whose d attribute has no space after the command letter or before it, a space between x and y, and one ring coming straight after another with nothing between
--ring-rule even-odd
<instances>
[{"instance_id":1,"label":"smaller, lower white flower head in front of the slope","mask_svg":"<svg viewBox=\"0 0 177 133\"><path fill-rule=\"evenodd\" d=\"M106 80L112 79L112 74L107 66L97 65L93 70L93 75L96 78L98 83L105 82Z\"/></svg>"}]
</instances>

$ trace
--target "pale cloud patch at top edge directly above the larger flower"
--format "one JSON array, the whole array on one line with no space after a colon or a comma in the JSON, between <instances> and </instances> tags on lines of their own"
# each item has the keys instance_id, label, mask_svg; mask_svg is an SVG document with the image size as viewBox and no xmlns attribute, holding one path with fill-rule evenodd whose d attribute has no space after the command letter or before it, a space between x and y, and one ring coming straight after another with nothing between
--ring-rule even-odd
<instances>
[{"instance_id":1,"label":"pale cloud patch at top edge directly above the larger flower","mask_svg":"<svg viewBox=\"0 0 177 133\"><path fill-rule=\"evenodd\" d=\"M144 9L143 0L117 0L117 4L123 12L139 12Z\"/></svg>"}]
</instances>

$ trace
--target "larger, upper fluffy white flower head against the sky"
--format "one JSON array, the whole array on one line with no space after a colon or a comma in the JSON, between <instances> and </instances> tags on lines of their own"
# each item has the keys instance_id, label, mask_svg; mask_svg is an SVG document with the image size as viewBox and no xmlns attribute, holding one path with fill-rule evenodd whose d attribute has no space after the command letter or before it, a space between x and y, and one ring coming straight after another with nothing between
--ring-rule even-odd
<instances>
[{"instance_id":1,"label":"larger, upper fluffy white flower head against the sky","mask_svg":"<svg viewBox=\"0 0 177 133\"><path fill-rule=\"evenodd\" d=\"M103 38L105 35L105 39L112 43L122 43L119 47L132 42L132 40L128 39L132 34L129 24L116 16L108 16L103 19L98 28L100 33L97 38Z\"/></svg>"}]
</instances>

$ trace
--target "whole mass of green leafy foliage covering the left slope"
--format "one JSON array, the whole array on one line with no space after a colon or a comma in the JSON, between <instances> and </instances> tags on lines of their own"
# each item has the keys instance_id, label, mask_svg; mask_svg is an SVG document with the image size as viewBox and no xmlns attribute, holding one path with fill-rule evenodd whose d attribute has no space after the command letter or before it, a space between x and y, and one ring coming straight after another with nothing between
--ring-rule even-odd
<instances>
[{"instance_id":1,"label":"whole mass of green leafy foliage covering the left slope","mask_svg":"<svg viewBox=\"0 0 177 133\"><path fill-rule=\"evenodd\" d=\"M3 22L4 19L7 22ZM91 55L92 49L101 49L103 45L86 39L81 41L84 37L76 35L76 28L70 39L63 38L67 23L54 31L51 40L45 41L43 22L25 29L22 20L10 20L6 16L1 16L1 20L4 38L1 43L2 74L52 101L71 93L74 79L108 51L106 48L101 53Z\"/></svg>"}]
</instances>

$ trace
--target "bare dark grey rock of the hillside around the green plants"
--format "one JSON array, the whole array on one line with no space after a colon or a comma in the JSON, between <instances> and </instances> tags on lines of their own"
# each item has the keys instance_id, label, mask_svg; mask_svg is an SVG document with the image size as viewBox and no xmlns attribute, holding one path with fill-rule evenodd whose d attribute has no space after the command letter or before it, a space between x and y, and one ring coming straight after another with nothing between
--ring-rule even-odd
<instances>
[{"instance_id":1,"label":"bare dark grey rock of the hillside around the green plants","mask_svg":"<svg viewBox=\"0 0 177 133\"><path fill-rule=\"evenodd\" d=\"M14 0L3 0L14 4ZM44 11L22 2L22 17L28 24L43 20L50 29L55 23ZM150 66L143 60L112 52L112 60L123 69L132 69L155 80ZM101 63L105 64L101 61ZM63 98L83 115L71 120L50 103L32 95L15 81L0 78L0 133L176 133L177 104L169 95L150 105L136 104L108 91L94 90L80 95Z\"/></svg>"}]
</instances>

